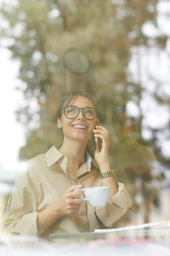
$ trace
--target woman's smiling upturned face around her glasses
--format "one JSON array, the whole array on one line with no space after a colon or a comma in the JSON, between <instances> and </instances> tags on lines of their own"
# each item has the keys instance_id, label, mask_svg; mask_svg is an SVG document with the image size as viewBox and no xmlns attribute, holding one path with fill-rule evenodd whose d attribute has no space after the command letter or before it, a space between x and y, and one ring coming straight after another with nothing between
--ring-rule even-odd
<instances>
[{"instance_id":1,"label":"woman's smiling upturned face around her glasses","mask_svg":"<svg viewBox=\"0 0 170 256\"><path fill-rule=\"evenodd\" d=\"M68 106L75 106L77 108L95 108L90 99L79 95L74 96ZM87 141L92 136L96 120L96 118L94 120L86 119L82 110L79 111L79 115L74 119L68 119L63 112L61 118L57 118L57 127L62 128L64 137ZM78 125L80 128L77 128Z\"/></svg>"}]
</instances>

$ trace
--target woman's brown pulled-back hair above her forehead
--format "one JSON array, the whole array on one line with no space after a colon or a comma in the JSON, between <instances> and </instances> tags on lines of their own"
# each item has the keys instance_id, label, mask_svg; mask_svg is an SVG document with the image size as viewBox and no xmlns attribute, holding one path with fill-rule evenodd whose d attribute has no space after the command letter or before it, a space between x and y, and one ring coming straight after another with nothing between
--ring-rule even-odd
<instances>
[{"instance_id":1,"label":"woman's brown pulled-back hair above her forehead","mask_svg":"<svg viewBox=\"0 0 170 256\"><path fill-rule=\"evenodd\" d=\"M94 105L94 108L98 109L97 101L96 101L95 97L93 97L91 94L89 94L88 92L86 92L84 90L72 90L70 92L67 92L65 94L65 96L63 97L63 99L60 103L60 106L58 108L58 111L57 111L57 117L59 117L59 118L61 117L63 107L67 107L69 105L69 103L71 102L71 100L73 99L73 97L77 96L77 95L90 99Z\"/></svg>"}]
</instances>

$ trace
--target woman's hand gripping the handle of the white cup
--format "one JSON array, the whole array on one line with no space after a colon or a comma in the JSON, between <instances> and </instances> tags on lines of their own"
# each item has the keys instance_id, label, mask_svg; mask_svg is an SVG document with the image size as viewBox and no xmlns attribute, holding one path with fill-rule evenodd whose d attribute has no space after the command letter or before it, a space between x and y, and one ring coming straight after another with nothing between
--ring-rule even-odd
<instances>
[{"instance_id":1,"label":"woman's hand gripping the handle of the white cup","mask_svg":"<svg viewBox=\"0 0 170 256\"><path fill-rule=\"evenodd\" d=\"M75 189L81 189L82 186L73 185L67 189L60 200L56 202L57 211L60 212L61 216L70 215L79 211L79 208L83 202L82 199L78 197L81 195L80 191L75 191Z\"/></svg>"}]
</instances>

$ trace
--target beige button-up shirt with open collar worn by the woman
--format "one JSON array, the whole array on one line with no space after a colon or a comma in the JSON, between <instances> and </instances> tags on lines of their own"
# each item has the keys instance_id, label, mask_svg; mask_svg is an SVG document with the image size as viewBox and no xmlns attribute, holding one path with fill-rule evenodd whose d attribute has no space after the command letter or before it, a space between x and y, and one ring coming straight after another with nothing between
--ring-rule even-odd
<instances>
[{"instance_id":1,"label":"beige button-up shirt with open collar worn by the woman","mask_svg":"<svg viewBox=\"0 0 170 256\"><path fill-rule=\"evenodd\" d=\"M102 186L100 171L88 153L86 162L75 177L67 174L67 158L55 145L46 154L30 159L28 164L28 171L18 173L11 192L9 209L3 223L8 234L38 235L38 213L59 200L73 184L82 184L83 187ZM49 234L53 233L92 232L101 229L103 225L114 227L115 222L132 205L124 184L118 183L118 187L119 191L108 200L106 206L91 207L83 201L77 213L59 218L41 237L49 238Z\"/></svg>"}]
</instances>

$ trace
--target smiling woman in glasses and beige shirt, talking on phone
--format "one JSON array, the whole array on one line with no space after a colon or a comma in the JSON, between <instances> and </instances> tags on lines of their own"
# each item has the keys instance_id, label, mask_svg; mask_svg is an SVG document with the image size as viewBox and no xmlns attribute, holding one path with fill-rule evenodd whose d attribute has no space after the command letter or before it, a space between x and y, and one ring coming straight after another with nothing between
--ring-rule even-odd
<instances>
[{"instance_id":1,"label":"smiling woman in glasses and beige shirt, talking on phone","mask_svg":"<svg viewBox=\"0 0 170 256\"><path fill-rule=\"evenodd\" d=\"M17 176L4 219L10 234L49 238L52 233L91 232L114 227L130 208L130 196L110 166L109 134L96 125L98 117L90 94L81 90L65 95L57 112L62 145L30 159L29 170ZM95 159L86 151L92 136L102 139ZM75 189L91 186L111 187L106 206L91 207L78 198L81 193Z\"/></svg>"}]
</instances>

